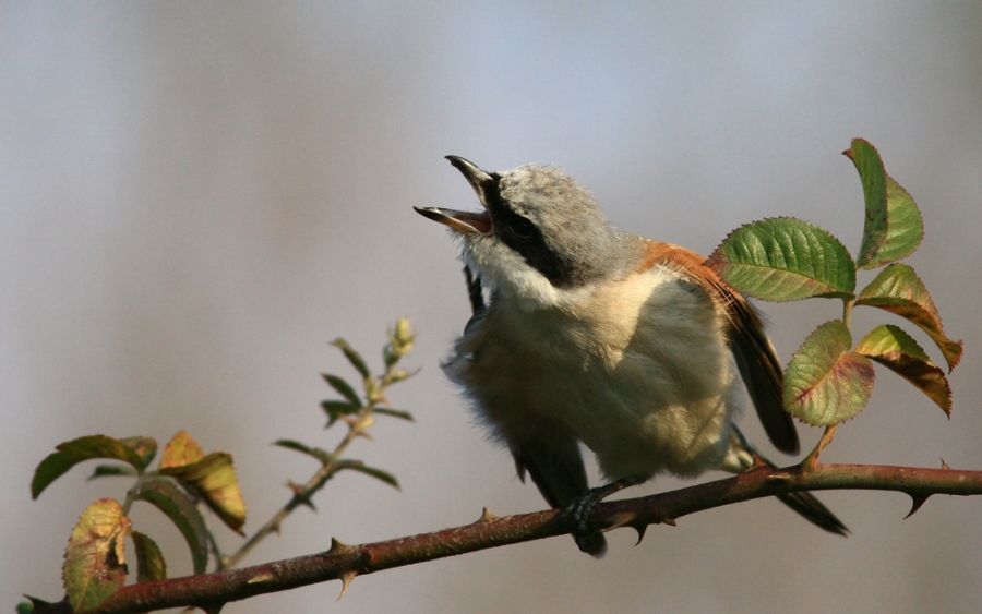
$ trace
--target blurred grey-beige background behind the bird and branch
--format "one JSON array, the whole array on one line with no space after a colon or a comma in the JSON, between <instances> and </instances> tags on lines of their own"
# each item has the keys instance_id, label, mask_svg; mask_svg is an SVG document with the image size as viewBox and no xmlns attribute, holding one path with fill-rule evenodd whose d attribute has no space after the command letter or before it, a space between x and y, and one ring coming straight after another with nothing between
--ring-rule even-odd
<instances>
[{"instance_id":1,"label":"blurred grey-beige background behind the bird and branch","mask_svg":"<svg viewBox=\"0 0 982 614\"><path fill-rule=\"evenodd\" d=\"M854 252L862 195L840 152L869 139L921 206L909 262L966 357L950 421L881 370L823 459L982 469L980 32L978 2L0 4L0 609L58 599L79 514L124 496L123 480L85 482L89 463L32 502L59 442L187 429L233 454L254 530L314 469L270 443L338 436L321 430L319 372L351 371L327 341L378 365L398 315L422 371L391 397L417 422L380 419L350 456L403 491L343 474L246 563L543 507L438 368L468 304L455 246L411 206L477 206L446 154L563 166L615 225L703 253L780 215ZM786 359L839 315L812 302L764 305ZM860 310L855 332L883 320L897 322ZM901 520L900 494L822 498L851 537L761 501L652 527L637 547L616 531L601 562L555 539L358 578L339 603L333 582L226 610L982 607L982 499L934 497ZM155 509L133 517L172 575L190 571Z\"/></svg>"}]
</instances>

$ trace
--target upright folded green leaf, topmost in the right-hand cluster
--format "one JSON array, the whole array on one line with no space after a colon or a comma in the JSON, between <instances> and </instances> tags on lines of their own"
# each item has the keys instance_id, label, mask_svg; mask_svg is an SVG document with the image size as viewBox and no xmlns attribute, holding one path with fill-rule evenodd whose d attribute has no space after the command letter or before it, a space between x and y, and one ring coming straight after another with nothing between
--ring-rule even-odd
<instances>
[{"instance_id":1,"label":"upright folded green leaf, topmost in the right-hand cluster","mask_svg":"<svg viewBox=\"0 0 982 614\"><path fill-rule=\"evenodd\" d=\"M866 221L857 264L877 268L909 256L924 237L921 213L910 194L883 168L879 153L862 139L843 152L855 165L863 184Z\"/></svg>"}]
</instances>

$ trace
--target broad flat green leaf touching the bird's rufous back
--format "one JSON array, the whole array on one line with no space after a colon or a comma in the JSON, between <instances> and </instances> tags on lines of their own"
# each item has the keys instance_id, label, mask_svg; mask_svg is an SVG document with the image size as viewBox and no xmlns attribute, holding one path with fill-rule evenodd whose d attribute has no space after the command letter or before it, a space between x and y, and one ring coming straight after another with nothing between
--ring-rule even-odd
<instances>
[{"instance_id":1,"label":"broad flat green leaf touching the bird's rufous back","mask_svg":"<svg viewBox=\"0 0 982 614\"><path fill-rule=\"evenodd\" d=\"M706 264L727 284L765 301L851 299L855 264L828 231L789 217L741 226Z\"/></svg>"}]
</instances>

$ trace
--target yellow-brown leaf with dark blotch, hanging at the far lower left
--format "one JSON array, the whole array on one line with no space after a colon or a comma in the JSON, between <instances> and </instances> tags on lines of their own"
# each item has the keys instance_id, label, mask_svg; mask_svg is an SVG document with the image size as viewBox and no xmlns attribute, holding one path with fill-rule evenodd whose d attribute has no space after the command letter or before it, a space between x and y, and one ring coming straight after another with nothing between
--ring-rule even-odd
<instances>
[{"instance_id":1,"label":"yellow-brown leaf with dark blotch, hanging at the far lower left","mask_svg":"<svg viewBox=\"0 0 982 614\"><path fill-rule=\"evenodd\" d=\"M127 580L124 556L130 519L111 498L101 498L82 513L64 552L62 579L75 612L91 610L112 595Z\"/></svg>"}]
</instances>

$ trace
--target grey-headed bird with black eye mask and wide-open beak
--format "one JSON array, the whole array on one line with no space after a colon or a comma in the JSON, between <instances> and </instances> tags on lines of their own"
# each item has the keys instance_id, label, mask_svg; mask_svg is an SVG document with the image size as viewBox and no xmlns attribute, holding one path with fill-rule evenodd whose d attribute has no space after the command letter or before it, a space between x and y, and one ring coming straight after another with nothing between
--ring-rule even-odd
<instances>
[{"instance_id":1,"label":"grey-headed bird with black eye mask and wide-open beak","mask_svg":"<svg viewBox=\"0 0 982 614\"><path fill-rule=\"evenodd\" d=\"M443 363L477 422L508 449L583 552L604 497L657 474L741 473L756 453L734 424L736 373L774 446L798 454L783 373L745 297L687 249L611 226L591 193L554 166L488 172L459 156L482 210L414 207L459 242L471 317ZM735 372L733 369L735 363ZM580 443L604 485L590 489ZM811 493L779 498L846 534Z\"/></svg>"}]
</instances>

